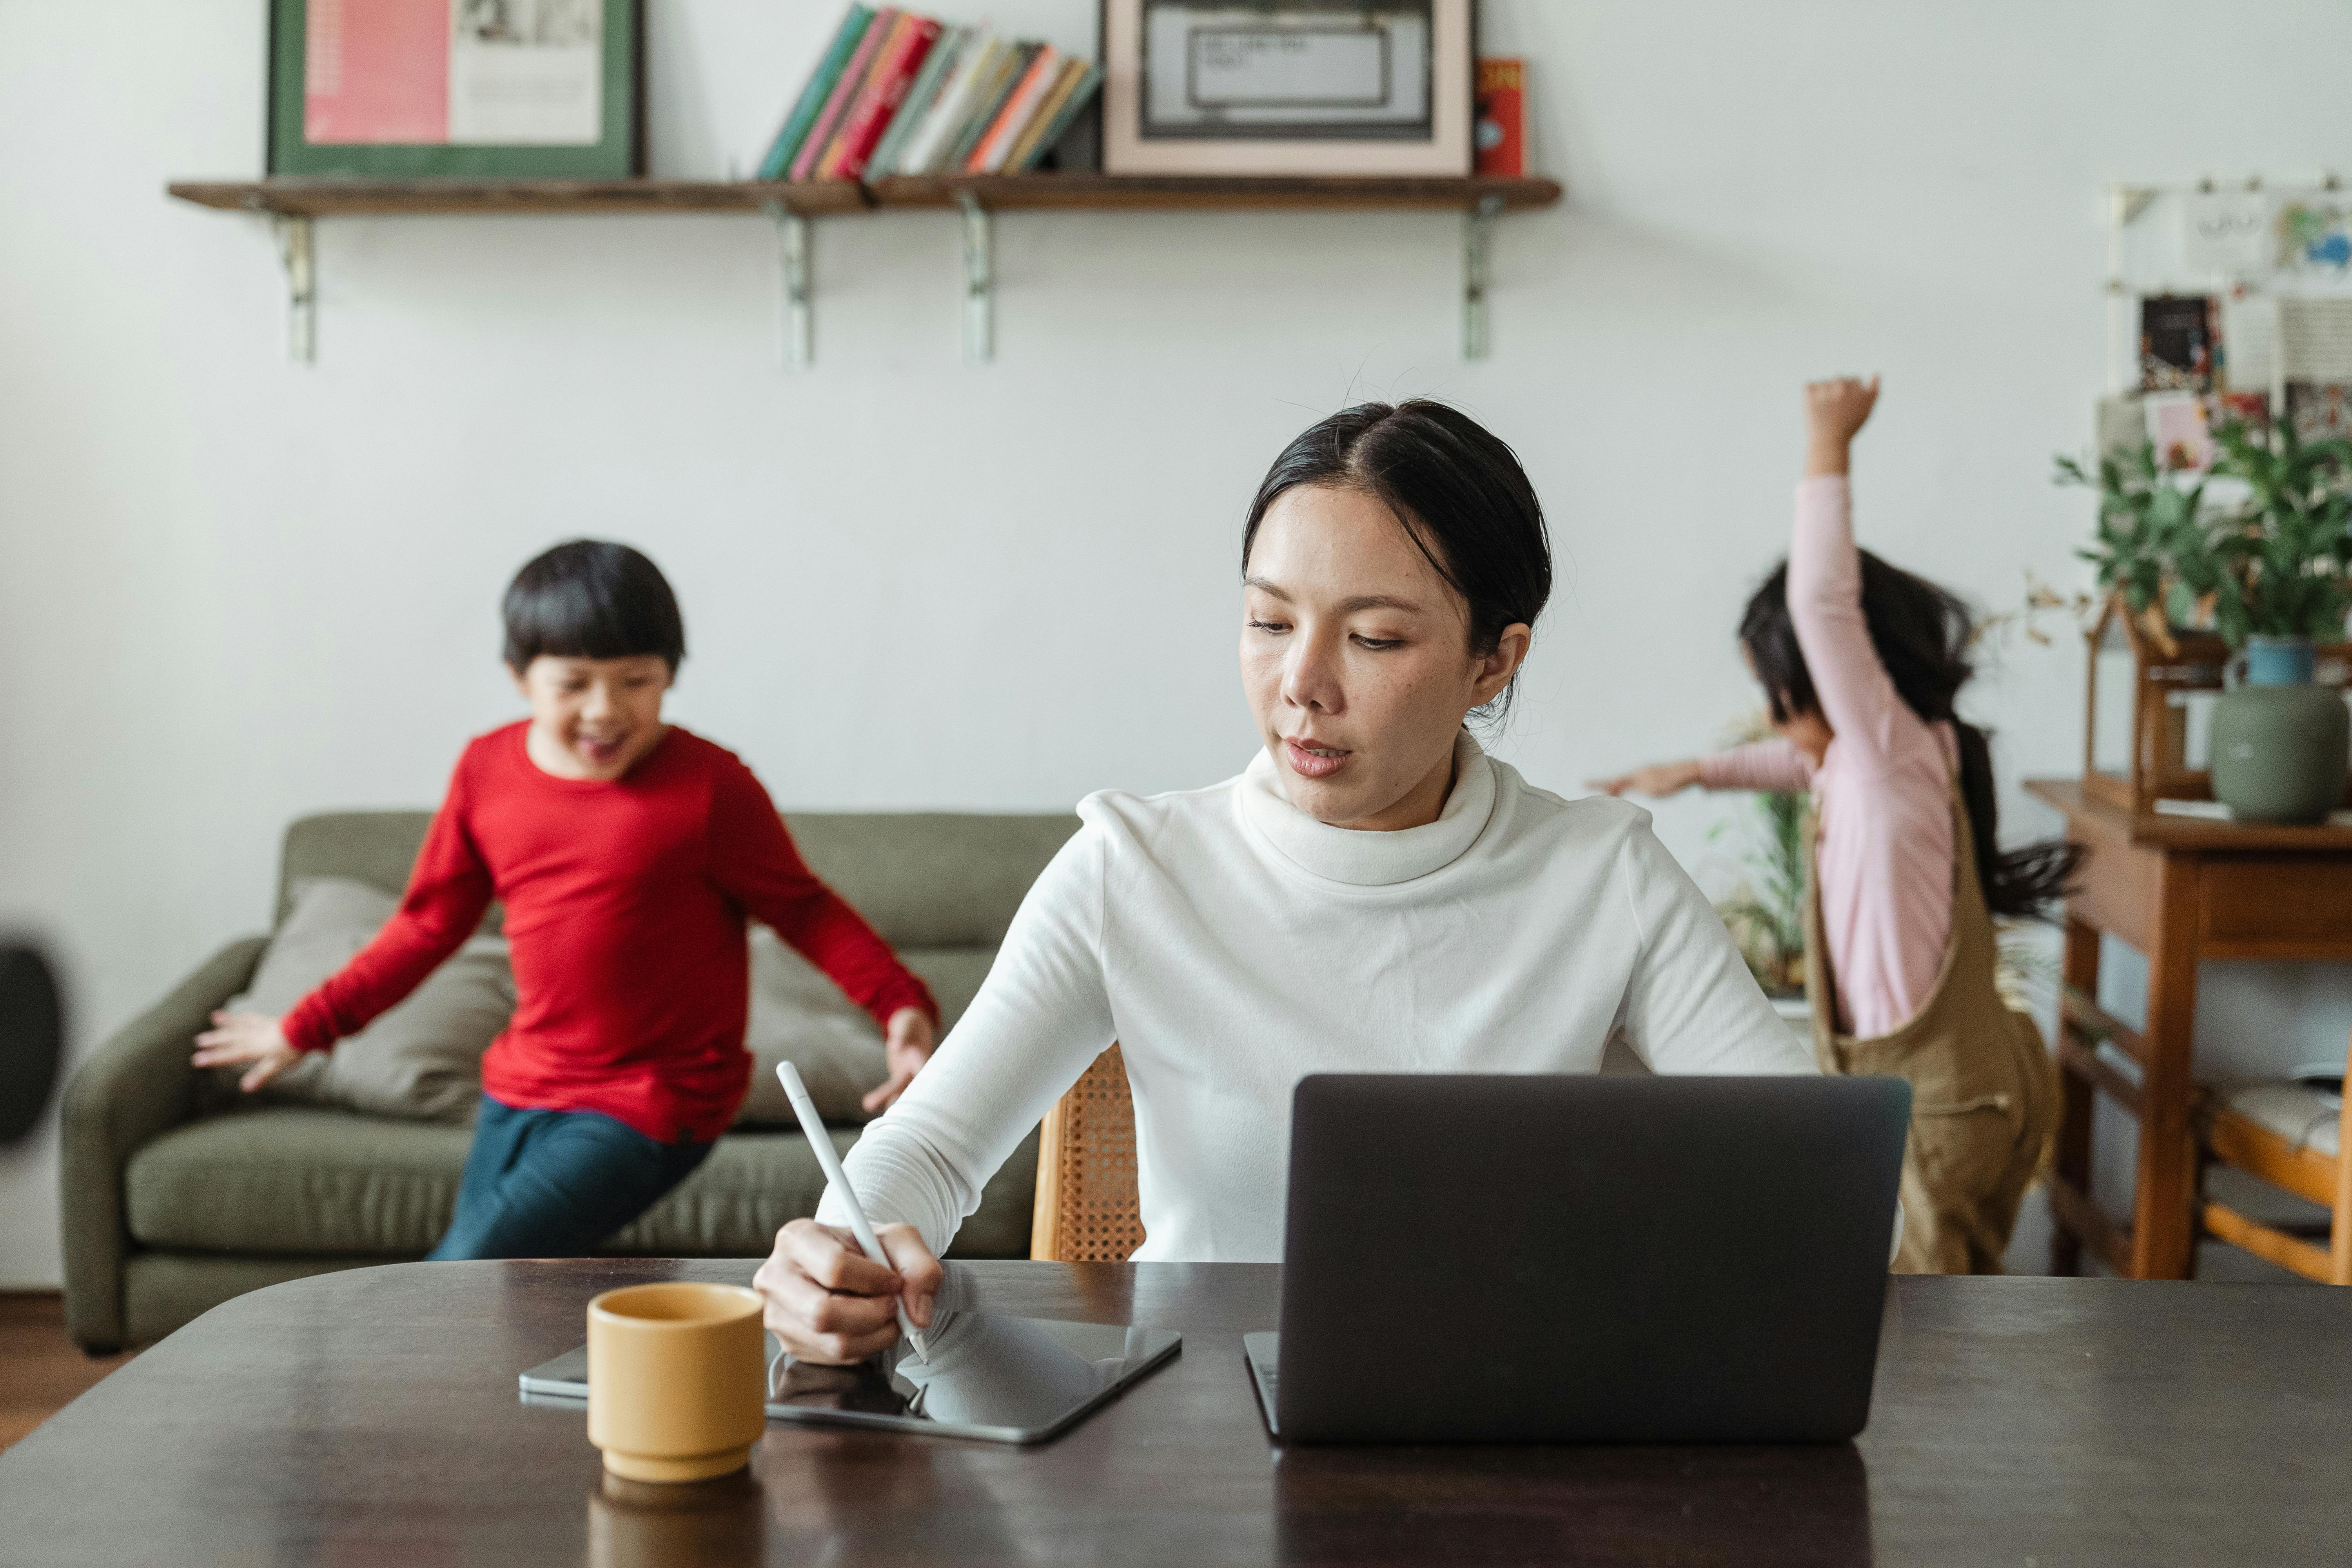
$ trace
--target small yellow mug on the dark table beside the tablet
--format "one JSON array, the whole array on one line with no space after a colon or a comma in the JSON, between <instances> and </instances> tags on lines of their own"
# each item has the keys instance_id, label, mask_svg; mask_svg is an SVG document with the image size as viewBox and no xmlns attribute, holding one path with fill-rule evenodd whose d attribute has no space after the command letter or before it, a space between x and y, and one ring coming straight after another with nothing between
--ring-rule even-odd
<instances>
[{"instance_id":1,"label":"small yellow mug on the dark table beside the tablet","mask_svg":"<svg viewBox=\"0 0 2352 1568\"><path fill-rule=\"evenodd\" d=\"M588 1441L628 1481L708 1481L767 1432L760 1298L661 1284L588 1302Z\"/></svg>"}]
</instances>

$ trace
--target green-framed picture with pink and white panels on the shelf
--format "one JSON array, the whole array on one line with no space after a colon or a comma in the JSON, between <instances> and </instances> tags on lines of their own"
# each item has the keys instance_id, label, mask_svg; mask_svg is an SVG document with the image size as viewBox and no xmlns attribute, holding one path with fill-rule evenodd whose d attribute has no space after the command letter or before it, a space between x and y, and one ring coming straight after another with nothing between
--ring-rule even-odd
<instances>
[{"instance_id":1,"label":"green-framed picture with pink and white panels on the shelf","mask_svg":"<svg viewBox=\"0 0 2352 1568\"><path fill-rule=\"evenodd\" d=\"M640 0L270 0L270 174L628 179Z\"/></svg>"}]
</instances>

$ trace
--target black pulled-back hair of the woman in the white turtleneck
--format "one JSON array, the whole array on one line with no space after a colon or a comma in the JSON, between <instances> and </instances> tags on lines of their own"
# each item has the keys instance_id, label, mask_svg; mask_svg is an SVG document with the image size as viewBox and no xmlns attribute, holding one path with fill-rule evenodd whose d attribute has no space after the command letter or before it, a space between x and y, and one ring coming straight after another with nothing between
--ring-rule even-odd
<instances>
[{"instance_id":1,"label":"black pulled-back hair of the woman in the white turtleneck","mask_svg":"<svg viewBox=\"0 0 2352 1568\"><path fill-rule=\"evenodd\" d=\"M1470 651L1494 654L1510 625L1534 625L1552 597L1552 536L1517 454L1442 402L1359 402L1310 425L1265 470L1242 529L1242 576L1265 510L1301 484L1359 489L1470 607ZM1482 717L1501 717L1512 675Z\"/></svg>"}]
</instances>

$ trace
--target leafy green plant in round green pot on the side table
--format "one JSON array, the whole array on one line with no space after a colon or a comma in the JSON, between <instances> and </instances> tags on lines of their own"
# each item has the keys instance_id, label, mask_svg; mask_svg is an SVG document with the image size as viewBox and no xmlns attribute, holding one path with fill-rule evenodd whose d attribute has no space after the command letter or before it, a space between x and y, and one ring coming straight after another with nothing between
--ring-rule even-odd
<instances>
[{"instance_id":1,"label":"leafy green plant in round green pot on the side table","mask_svg":"<svg viewBox=\"0 0 2352 1568\"><path fill-rule=\"evenodd\" d=\"M2352 444L2305 442L2286 421L2232 421L2213 440L2199 480L2164 470L2150 444L2096 475L2058 458L2058 480L2098 491L2082 557L2152 642L2211 625L2244 651L2213 710L2213 799L2251 820L2317 823L2343 802L2352 743L2343 696L2312 682L2314 639L2343 639L2352 611Z\"/></svg>"}]
</instances>

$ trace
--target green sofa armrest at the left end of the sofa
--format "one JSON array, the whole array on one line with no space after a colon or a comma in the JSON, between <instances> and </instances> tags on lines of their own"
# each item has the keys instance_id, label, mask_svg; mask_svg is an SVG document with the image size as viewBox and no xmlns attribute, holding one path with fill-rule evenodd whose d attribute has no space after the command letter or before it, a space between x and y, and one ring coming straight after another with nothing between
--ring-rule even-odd
<instances>
[{"instance_id":1,"label":"green sofa armrest at the left end of the sofa","mask_svg":"<svg viewBox=\"0 0 2352 1568\"><path fill-rule=\"evenodd\" d=\"M261 964L263 936L230 943L169 997L75 1067L59 1114L56 1171L66 1248L66 1333L89 1354L122 1347L122 1168L195 1117L195 1034Z\"/></svg>"}]
</instances>

